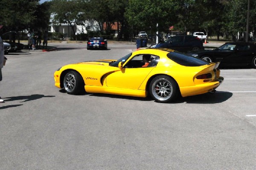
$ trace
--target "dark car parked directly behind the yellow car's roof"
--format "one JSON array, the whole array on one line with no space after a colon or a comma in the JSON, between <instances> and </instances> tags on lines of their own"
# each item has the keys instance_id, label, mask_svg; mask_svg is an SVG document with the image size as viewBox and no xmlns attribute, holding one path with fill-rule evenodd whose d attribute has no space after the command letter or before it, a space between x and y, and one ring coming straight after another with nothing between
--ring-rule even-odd
<instances>
[{"instance_id":1,"label":"dark car parked directly behind the yellow car's roof","mask_svg":"<svg viewBox=\"0 0 256 170\"><path fill-rule=\"evenodd\" d=\"M163 43L158 43L150 48L167 48L174 49L179 52L189 52L204 49L203 42L192 35L176 35L165 40Z\"/></svg>"}]
</instances>

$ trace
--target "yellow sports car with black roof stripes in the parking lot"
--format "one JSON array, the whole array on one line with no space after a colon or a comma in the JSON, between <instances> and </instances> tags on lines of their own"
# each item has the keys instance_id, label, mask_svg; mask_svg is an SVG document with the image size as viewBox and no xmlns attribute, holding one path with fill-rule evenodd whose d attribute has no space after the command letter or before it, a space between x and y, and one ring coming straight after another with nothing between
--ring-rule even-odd
<instances>
[{"instance_id":1,"label":"yellow sports car with black roof stripes in the parking lot","mask_svg":"<svg viewBox=\"0 0 256 170\"><path fill-rule=\"evenodd\" d=\"M142 49L119 60L62 66L54 73L54 80L55 86L72 95L89 92L147 97L149 93L155 101L165 103L178 95L215 92L224 80L218 65L171 49Z\"/></svg>"}]
</instances>

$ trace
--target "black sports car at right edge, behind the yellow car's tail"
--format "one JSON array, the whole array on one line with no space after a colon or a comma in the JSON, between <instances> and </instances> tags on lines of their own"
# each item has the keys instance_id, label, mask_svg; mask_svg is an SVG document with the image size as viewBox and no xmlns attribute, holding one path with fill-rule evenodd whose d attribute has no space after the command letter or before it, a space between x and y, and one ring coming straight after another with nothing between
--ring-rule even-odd
<instances>
[{"instance_id":1,"label":"black sports car at right edge, behind the yellow car's tail","mask_svg":"<svg viewBox=\"0 0 256 170\"><path fill-rule=\"evenodd\" d=\"M256 69L255 43L228 42L217 49L201 50L188 54L209 62L220 61L220 66L252 66Z\"/></svg>"}]
</instances>

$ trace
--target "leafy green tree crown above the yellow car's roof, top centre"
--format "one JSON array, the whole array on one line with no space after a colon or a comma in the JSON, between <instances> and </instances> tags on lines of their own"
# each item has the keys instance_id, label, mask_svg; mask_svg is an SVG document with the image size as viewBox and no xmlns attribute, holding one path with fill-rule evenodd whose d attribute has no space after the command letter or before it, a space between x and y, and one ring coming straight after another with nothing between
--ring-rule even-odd
<instances>
[{"instance_id":1,"label":"leafy green tree crown above the yellow car's roof, top centre","mask_svg":"<svg viewBox=\"0 0 256 170\"><path fill-rule=\"evenodd\" d=\"M177 22L177 0L129 0L125 18L134 30L166 31ZM157 28L158 24L158 28Z\"/></svg>"}]
</instances>

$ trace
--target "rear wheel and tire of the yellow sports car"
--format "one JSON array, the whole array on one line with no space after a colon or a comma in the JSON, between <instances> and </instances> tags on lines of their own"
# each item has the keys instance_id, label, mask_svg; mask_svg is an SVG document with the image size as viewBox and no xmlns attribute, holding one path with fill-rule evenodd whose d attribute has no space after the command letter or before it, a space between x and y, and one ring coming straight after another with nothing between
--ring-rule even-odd
<instances>
[{"instance_id":1,"label":"rear wheel and tire of the yellow sports car","mask_svg":"<svg viewBox=\"0 0 256 170\"><path fill-rule=\"evenodd\" d=\"M172 78L160 75L151 81L149 93L155 101L166 103L175 100L178 94L178 85Z\"/></svg>"}]
</instances>

